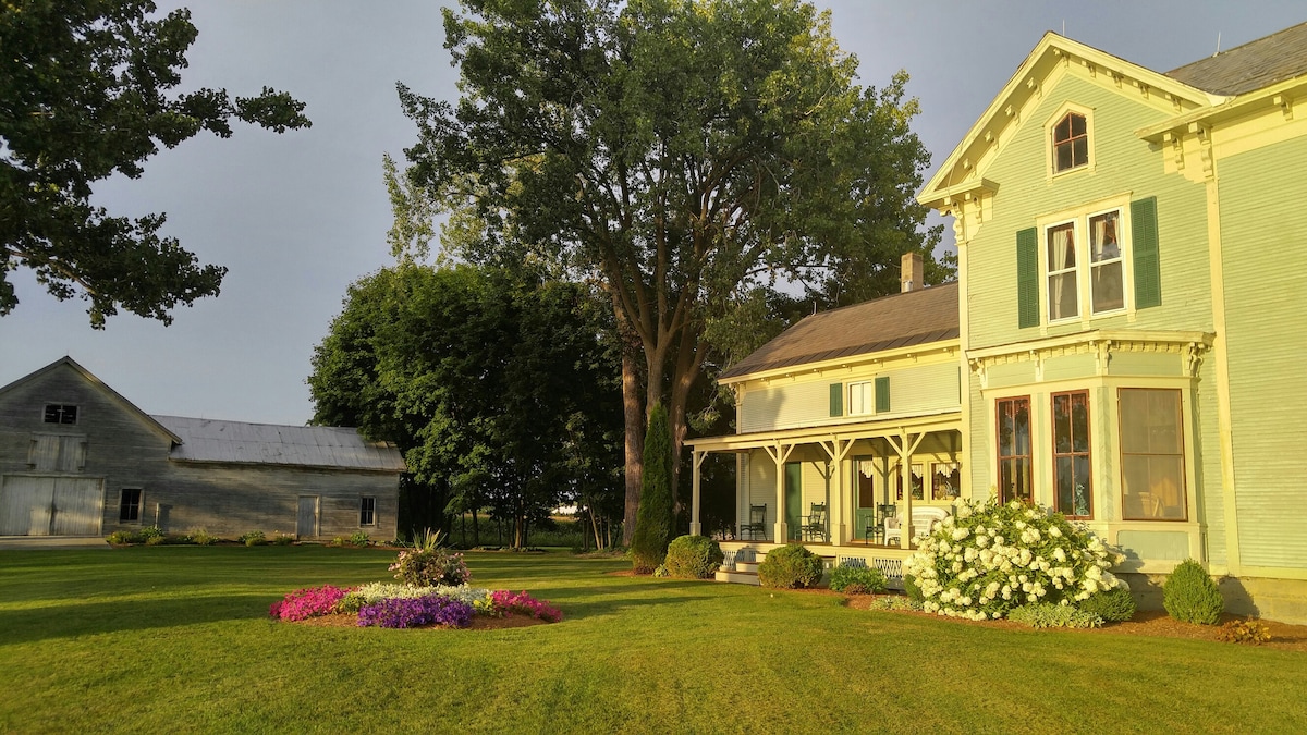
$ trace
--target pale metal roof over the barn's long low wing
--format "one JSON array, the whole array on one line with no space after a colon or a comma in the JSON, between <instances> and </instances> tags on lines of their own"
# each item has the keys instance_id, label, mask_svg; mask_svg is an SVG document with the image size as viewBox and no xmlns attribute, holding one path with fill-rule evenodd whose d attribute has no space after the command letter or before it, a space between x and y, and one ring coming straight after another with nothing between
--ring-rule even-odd
<instances>
[{"instance_id":1,"label":"pale metal roof over the barn's long low wing","mask_svg":"<svg viewBox=\"0 0 1307 735\"><path fill-rule=\"evenodd\" d=\"M404 458L387 442L369 442L357 429L335 426L278 426L182 416L154 416L176 434L173 459L289 464L403 472Z\"/></svg>"}]
</instances>

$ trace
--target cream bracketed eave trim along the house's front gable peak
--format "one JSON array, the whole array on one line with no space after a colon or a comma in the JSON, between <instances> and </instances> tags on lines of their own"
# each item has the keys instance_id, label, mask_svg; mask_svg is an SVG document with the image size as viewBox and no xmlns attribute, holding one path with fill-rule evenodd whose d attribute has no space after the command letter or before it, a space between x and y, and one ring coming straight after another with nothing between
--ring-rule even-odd
<instances>
[{"instance_id":1,"label":"cream bracketed eave trim along the house's front gable peak","mask_svg":"<svg viewBox=\"0 0 1307 735\"><path fill-rule=\"evenodd\" d=\"M1112 80L1123 88L1148 89L1151 99L1174 107L1178 114L1209 107L1225 99L1182 80L1048 31L921 188L918 201L928 207L940 207L950 197L978 190L993 191L995 184L984 178L987 162L997 156L999 149L1012 137L1012 131L1022 124L1021 111L1026 103L1038 99L1043 94L1047 78L1064 65L1091 71L1097 78Z\"/></svg>"}]
</instances>

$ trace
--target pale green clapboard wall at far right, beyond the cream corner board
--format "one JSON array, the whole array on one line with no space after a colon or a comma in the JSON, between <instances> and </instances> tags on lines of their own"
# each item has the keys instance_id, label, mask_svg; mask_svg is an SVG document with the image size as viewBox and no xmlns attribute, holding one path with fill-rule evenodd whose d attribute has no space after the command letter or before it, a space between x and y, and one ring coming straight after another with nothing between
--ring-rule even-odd
<instances>
[{"instance_id":1,"label":"pale green clapboard wall at far right, beyond the cream corner board","mask_svg":"<svg viewBox=\"0 0 1307 735\"><path fill-rule=\"evenodd\" d=\"M1283 207L1307 196L1307 137L1219 166L1239 549L1246 565L1307 568L1307 221Z\"/></svg>"}]
</instances>

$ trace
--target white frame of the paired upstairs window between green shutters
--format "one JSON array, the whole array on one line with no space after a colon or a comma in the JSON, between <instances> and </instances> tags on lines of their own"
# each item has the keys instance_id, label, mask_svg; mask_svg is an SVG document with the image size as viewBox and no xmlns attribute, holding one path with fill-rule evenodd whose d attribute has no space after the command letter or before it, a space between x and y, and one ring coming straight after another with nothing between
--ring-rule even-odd
<instances>
[{"instance_id":1,"label":"white frame of the paired upstairs window between green shutters","mask_svg":"<svg viewBox=\"0 0 1307 735\"><path fill-rule=\"evenodd\" d=\"M1099 216L1117 213L1116 245L1119 262L1121 264L1121 306L1104 311L1094 311L1094 263L1090 256L1090 226L1089 222ZM1048 262L1050 231L1072 224L1072 238L1076 246L1076 303L1074 316L1052 318L1052 302L1050 285L1052 276L1072 272L1072 269L1051 271ZM1093 319L1106 319L1133 314L1134 311L1134 272L1132 268L1131 252L1131 195L1123 194L1108 199L1102 199L1070 211L1063 211L1035 221L1039 237L1039 318L1046 326L1089 323ZM1102 264L1099 264L1102 267Z\"/></svg>"}]
</instances>

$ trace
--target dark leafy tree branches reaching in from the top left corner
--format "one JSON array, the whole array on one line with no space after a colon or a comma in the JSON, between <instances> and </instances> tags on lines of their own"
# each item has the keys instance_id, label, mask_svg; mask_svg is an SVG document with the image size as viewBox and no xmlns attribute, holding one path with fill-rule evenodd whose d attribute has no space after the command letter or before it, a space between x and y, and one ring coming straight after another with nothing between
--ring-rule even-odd
<instances>
[{"instance_id":1,"label":"dark leafy tree branches reaching in from the top left corner","mask_svg":"<svg viewBox=\"0 0 1307 735\"><path fill-rule=\"evenodd\" d=\"M90 322L128 311L171 322L178 303L214 296L226 268L199 265L163 214L112 217L91 183L231 119L284 132L308 127L303 103L264 88L170 95L196 29L149 0L12 0L0 7L0 315L18 303L9 271L31 268L59 299L81 292Z\"/></svg>"}]
</instances>

